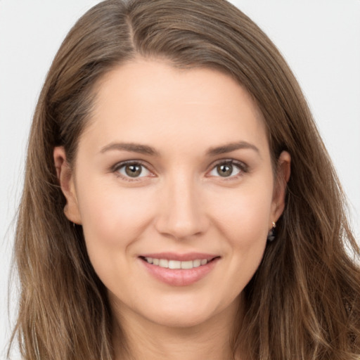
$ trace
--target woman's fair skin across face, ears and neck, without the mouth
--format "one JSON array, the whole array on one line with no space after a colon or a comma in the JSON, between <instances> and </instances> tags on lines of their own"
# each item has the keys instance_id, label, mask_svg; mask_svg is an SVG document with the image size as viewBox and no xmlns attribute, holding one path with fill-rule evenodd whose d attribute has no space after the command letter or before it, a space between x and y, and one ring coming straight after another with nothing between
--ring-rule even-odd
<instances>
[{"instance_id":1,"label":"woman's fair skin across face, ears and neck, without the mouth","mask_svg":"<svg viewBox=\"0 0 360 360\"><path fill-rule=\"evenodd\" d=\"M115 143L150 146L156 154ZM264 120L245 89L217 70L176 70L139 58L98 84L73 172L62 147L54 160L65 215L83 226L131 359L229 359L241 293L283 212L290 176L285 152L274 176ZM127 160L141 162L141 176L127 175ZM232 171L221 176L217 166L230 161ZM200 281L174 286L139 259L155 252L205 252L219 260ZM126 359L119 334L115 326L116 359Z\"/></svg>"}]
</instances>

